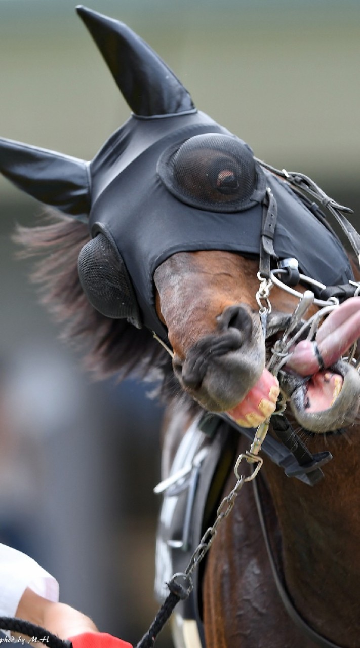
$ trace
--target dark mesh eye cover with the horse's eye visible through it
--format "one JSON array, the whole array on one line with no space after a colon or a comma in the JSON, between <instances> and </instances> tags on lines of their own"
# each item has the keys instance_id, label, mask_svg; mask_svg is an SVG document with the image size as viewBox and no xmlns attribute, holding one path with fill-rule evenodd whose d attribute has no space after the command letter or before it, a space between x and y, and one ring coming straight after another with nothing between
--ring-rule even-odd
<instances>
[{"instance_id":1,"label":"dark mesh eye cover with the horse's eye visible through it","mask_svg":"<svg viewBox=\"0 0 360 648\"><path fill-rule=\"evenodd\" d=\"M160 157L158 174L176 198L208 211L243 211L265 195L265 175L248 146L220 133L172 146Z\"/></svg>"}]
</instances>

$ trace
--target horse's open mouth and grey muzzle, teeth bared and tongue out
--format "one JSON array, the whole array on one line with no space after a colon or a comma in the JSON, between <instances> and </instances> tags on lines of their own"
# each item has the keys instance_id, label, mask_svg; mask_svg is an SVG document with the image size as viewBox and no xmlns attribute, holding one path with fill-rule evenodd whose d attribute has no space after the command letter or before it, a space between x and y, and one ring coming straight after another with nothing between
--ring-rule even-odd
<instances>
[{"instance_id":1,"label":"horse's open mouth and grey muzzle, teeth bared and tongue out","mask_svg":"<svg viewBox=\"0 0 360 648\"><path fill-rule=\"evenodd\" d=\"M300 321L299 329L293 329L293 335L300 331L300 336L289 347L286 364L274 369L270 362L276 375L265 362L272 358L273 345L287 330L291 315L278 313L269 318L265 343L254 325L258 334L243 345L237 343L234 331L219 340L216 336L204 339L184 364L182 378L185 375L188 382L183 387L206 410L226 411L245 428L256 428L270 419L280 393L304 430L323 434L353 424L359 413L360 376L343 356L360 333L360 299L356 299L357 303L331 314L314 341L301 338L304 322ZM348 317L350 308L356 309L353 319Z\"/></svg>"}]
</instances>

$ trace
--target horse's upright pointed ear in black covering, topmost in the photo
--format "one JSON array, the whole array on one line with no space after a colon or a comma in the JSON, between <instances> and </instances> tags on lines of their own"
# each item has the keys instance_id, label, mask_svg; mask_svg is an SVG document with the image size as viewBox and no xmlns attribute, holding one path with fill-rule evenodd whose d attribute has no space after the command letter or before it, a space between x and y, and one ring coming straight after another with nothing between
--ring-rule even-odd
<instances>
[{"instance_id":1,"label":"horse's upright pointed ear in black covering, topmost in the photo","mask_svg":"<svg viewBox=\"0 0 360 648\"><path fill-rule=\"evenodd\" d=\"M84 6L78 6L77 12L136 115L178 115L195 110L189 93L171 69L131 29Z\"/></svg>"}]
</instances>

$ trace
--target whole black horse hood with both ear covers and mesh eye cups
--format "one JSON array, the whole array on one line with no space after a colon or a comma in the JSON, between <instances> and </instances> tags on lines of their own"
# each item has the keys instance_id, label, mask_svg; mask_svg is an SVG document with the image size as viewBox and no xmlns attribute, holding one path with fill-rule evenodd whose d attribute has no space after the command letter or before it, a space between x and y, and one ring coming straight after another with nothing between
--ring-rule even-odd
<instances>
[{"instance_id":1,"label":"whole black horse hood with both ear covers and mesh eye cups","mask_svg":"<svg viewBox=\"0 0 360 648\"><path fill-rule=\"evenodd\" d=\"M162 59L123 23L84 7L90 30L133 111L91 163L0 140L0 170L73 218L89 218L79 257L97 310L163 335L154 271L178 251L259 254L264 205L277 205L273 257L295 257L326 285L352 278L337 238L252 150L197 111Z\"/></svg>"}]
</instances>

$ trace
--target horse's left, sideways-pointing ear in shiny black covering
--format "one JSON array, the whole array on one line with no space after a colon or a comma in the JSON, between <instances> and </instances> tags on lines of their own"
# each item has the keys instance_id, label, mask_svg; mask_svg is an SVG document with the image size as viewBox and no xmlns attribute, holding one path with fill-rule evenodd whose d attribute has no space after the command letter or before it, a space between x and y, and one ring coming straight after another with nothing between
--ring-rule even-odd
<instances>
[{"instance_id":1,"label":"horse's left, sideways-pointing ear in shiny black covering","mask_svg":"<svg viewBox=\"0 0 360 648\"><path fill-rule=\"evenodd\" d=\"M0 138L0 172L40 202L86 221L90 177L84 160Z\"/></svg>"}]
</instances>

